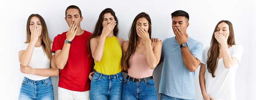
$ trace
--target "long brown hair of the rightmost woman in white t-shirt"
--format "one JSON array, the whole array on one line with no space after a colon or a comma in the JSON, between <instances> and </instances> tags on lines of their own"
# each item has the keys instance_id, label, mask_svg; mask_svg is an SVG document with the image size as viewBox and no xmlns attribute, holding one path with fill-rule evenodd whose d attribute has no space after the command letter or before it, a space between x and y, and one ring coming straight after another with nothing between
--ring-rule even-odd
<instances>
[{"instance_id":1,"label":"long brown hair of the rightmost woman in white t-shirt","mask_svg":"<svg viewBox=\"0 0 256 100\"><path fill-rule=\"evenodd\" d=\"M228 20L221 20L219 23L217 23L213 34L212 34L212 40L211 40L211 46L209 48L209 51L207 53L208 55L208 60L207 60L207 70L212 73L212 77L215 77L215 71L217 69L218 65L218 60L219 60L219 42L215 39L214 37L214 32L217 32L217 27L220 23L226 23L229 26L229 36L228 36L228 45L232 46L235 45L235 35L234 35L234 30L233 30L233 25L230 21Z\"/></svg>"}]
</instances>

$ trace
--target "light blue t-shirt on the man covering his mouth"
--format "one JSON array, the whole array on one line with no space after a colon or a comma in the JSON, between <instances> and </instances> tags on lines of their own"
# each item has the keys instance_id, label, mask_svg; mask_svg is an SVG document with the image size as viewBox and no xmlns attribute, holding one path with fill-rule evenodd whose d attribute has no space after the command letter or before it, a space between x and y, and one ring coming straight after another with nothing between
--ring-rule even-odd
<instances>
[{"instance_id":1,"label":"light blue t-shirt on the man covering his mouth","mask_svg":"<svg viewBox=\"0 0 256 100\"><path fill-rule=\"evenodd\" d=\"M202 43L189 37L187 45L191 54L201 60ZM190 72L185 67L181 47L175 37L163 41L161 60L163 69L158 93L182 99L195 99L195 72Z\"/></svg>"}]
</instances>

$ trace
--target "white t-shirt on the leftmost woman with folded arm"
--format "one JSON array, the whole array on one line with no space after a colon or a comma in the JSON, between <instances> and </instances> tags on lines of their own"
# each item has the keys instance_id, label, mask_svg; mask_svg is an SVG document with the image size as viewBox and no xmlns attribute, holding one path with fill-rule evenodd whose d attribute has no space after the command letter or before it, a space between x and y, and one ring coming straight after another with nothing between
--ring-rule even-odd
<instances>
[{"instance_id":1,"label":"white t-shirt on the leftmost woman with folded arm","mask_svg":"<svg viewBox=\"0 0 256 100\"><path fill-rule=\"evenodd\" d=\"M18 52L21 50L26 50L28 47L28 43L23 43L18 46ZM54 55L54 53L52 53ZM47 55L44 53L44 50L41 47L34 47L34 51L31 57L31 61L28 64L32 68L51 68L50 60ZM48 77L34 75L34 74L24 74L24 77L27 77L31 80L44 80Z\"/></svg>"}]
</instances>

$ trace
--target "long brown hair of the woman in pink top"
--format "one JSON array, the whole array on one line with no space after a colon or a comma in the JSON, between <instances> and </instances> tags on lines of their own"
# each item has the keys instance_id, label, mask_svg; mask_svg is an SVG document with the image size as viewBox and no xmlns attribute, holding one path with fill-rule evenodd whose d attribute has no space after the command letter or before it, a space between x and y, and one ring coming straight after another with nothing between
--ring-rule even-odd
<instances>
[{"instance_id":1,"label":"long brown hair of the woman in pink top","mask_svg":"<svg viewBox=\"0 0 256 100\"><path fill-rule=\"evenodd\" d=\"M124 62L123 62L123 67L124 70L127 70L129 68L129 60L131 59L131 56L134 54L136 47L137 47L137 41L139 39L137 32L136 32L136 22L138 19L140 18L146 18L148 23L149 23L149 27L148 27L148 33L149 33L149 37L151 38L151 19L150 16L147 13L139 13L133 20L132 22L132 27L130 29L129 32L129 45L126 51L126 54L124 56Z\"/></svg>"}]
</instances>

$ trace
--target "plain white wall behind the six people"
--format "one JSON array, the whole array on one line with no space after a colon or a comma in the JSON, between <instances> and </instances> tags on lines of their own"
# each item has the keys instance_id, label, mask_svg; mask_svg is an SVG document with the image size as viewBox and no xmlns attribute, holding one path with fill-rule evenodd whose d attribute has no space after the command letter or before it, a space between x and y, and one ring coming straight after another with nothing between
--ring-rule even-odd
<instances>
[{"instance_id":1,"label":"plain white wall behind the six people","mask_svg":"<svg viewBox=\"0 0 256 100\"><path fill-rule=\"evenodd\" d=\"M18 99L23 76L19 71L19 43L26 40L26 21L32 13L40 14L47 23L50 38L67 31L65 9L69 5L77 5L84 17L81 28L93 31L99 13L106 7L112 8L119 19L119 37L128 39L128 31L134 17L146 12L152 20L152 37L164 40L174 36L171 28L171 13L184 10L190 15L189 36L201 41L204 47L210 45L215 25L220 20L230 20L235 30L235 40L243 45L244 53L236 74L237 100L253 100L256 94L255 80L255 1L223 1L223 0L6 0L0 1L0 98L1 100ZM254 17L253 17L253 14ZM254 52L253 52L254 51ZM158 90L162 65L155 68L154 76ZM196 100L202 100L196 70ZM55 79L55 78L54 78ZM54 81L54 84L57 81ZM247 98L246 98L247 97Z\"/></svg>"}]
</instances>

